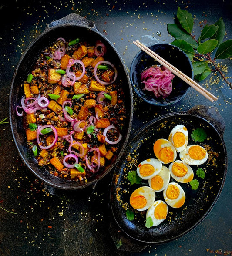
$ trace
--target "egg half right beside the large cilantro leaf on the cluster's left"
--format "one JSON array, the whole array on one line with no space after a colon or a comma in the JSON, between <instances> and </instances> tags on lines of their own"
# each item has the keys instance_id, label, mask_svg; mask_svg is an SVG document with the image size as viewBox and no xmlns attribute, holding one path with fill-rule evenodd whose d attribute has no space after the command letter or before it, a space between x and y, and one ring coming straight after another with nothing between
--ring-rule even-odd
<instances>
[{"instance_id":1,"label":"egg half right beside the large cilantro leaf on the cluster's left","mask_svg":"<svg viewBox=\"0 0 232 256\"><path fill-rule=\"evenodd\" d=\"M162 163L155 158L146 159L137 167L138 176L142 179L151 179L157 175L162 168Z\"/></svg>"}]
</instances>

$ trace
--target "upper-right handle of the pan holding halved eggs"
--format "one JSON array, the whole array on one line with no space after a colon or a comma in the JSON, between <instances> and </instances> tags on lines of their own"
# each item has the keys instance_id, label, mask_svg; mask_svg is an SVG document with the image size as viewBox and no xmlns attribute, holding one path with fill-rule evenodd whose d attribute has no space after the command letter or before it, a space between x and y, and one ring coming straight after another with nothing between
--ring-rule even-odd
<instances>
[{"instance_id":1,"label":"upper-right handle of the pan holding halved eggs","mask_svg":"<svg viewBox=\"0 0 232 256\"><path fill-rule=\"evenodd\" d=\"M194 107L190 108L187 113L205 118L214 126L219 135L223 137L225 131L225 122L219 113L218 108L204 105L195 105Z\"/></svg>"}]
</instances>

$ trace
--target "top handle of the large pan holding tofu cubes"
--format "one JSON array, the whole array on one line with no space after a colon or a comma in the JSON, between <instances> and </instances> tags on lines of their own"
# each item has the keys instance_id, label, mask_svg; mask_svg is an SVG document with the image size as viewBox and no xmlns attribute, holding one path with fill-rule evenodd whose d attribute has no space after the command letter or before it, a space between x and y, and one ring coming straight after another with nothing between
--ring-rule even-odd
<instances>
[{"instance_id":1,"label":"top handle of the large pan holding tofu cubes","mask_svg":"<svg viewBox=\"0 0 232 256\"><path fill-rule=\"evenodd\" d=\"M59 20L52 21L47 26L47 29L61 25L61 24L79 24L79 25L84 25L84 26L96 29L93 21L87 20L84 17L81 17L80 15L78 15L76 13L70 13L69 15L67 15Z\"/></svg>"}]
</instances>

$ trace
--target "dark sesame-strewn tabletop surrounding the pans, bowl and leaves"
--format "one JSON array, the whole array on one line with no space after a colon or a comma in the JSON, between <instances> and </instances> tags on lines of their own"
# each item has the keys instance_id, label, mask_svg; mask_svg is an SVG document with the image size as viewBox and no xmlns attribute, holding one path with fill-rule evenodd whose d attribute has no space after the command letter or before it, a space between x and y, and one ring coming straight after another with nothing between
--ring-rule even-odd
<instances>
[{"instance_id":1,"label":"dark sesame-strewn tabletop surrounding the pans, bowl and leaves","mask_svg":"<svg viewBox=\"0 0 232 256\"><path fill-rule=\"evenodd\" d=\"M144 36L165 43L173 40L168 35L167 24L174 22L178 6L194 16L195 34L199 35L199 25L204 20L214 24L223 17L226 27L224 40L232 38L232 2L229 0L4 1L0 4L0 120L9 116L10 81L21 54L51 21L72 12L93 20L100 33L114 44L129 70L139 51L132 44L133 40L141 37L142 41L151 40ZM232 77L231 59L222 61L222 64L228 67L226 76ZM215 207L195 229L173 242L147 246L140 253L118 250L126 247L138 250L144 245L137 243L135 246L134 241L120 237L117 226L109 231L112 173L98 182L92 193L89 190L78 193L55 191L55 195L51 195L44 184L25 168L14 145L10 125L2 124L0 206L17 214L0 208L0 255L231 255L232 90L222 79L213 83L214 79L218 80L218 77L212 74L201 82L219 97L214 103L193 89L182 101L168 108L149 106L134 94L131 138L148 121L170 112L187 111L195 104L217 107L225 121L228 173L224 189Z\"/></svg>"}]
</instances>

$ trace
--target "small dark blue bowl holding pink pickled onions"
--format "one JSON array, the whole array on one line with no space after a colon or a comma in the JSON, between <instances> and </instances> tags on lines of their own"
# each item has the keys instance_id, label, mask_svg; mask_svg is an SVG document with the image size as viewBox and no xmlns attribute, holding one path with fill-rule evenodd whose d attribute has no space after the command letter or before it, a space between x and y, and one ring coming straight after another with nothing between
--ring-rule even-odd
<instances>
[{"instance_id":1,"label":"small dark blue bowl holding pink pickled onions","mask_svg":"<svg viewBox=\"0 0 232 256\"><path fill-rule=\"evenodd\" d=\"M154 44L149 48L193 79L192 62L181 49L171 44ZM172 92L165 99L156 98L152 91L143 90L144 84L141 83L141 72L152 65L160 64L144 51L139 51L131 63L131 84L138 96L144 101L158 106L168 106L184 98L190 86L176 75L172 81Z\"/></svg>"}]
</instances>

